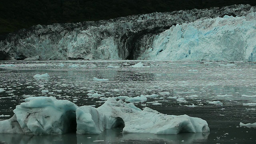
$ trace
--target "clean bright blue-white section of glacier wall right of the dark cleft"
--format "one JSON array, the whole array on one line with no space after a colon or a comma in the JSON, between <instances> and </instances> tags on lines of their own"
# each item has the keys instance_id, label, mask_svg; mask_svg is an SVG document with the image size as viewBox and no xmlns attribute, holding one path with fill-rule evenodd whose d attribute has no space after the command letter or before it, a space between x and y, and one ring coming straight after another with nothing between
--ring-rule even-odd
<instances>
[{"instance_id":1,"label":"clean bright blue-white section of glacier wall right of the dark cleft","mask_svg":"<svg viewBox=\"0 0 256 144\"><path fill-rule=\"evenodd\" d=\"M256 61L256 12L172 26L158 34L140 60ZM142 48L141 48L142 49Z\"/></svg>"}]
</instances>

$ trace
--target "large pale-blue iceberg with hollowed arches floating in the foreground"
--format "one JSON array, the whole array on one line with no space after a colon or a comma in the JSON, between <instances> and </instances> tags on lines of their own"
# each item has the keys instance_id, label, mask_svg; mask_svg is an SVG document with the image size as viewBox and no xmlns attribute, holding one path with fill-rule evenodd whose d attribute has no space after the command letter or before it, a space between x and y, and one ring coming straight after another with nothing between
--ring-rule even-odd
<instances>
[{"instance_id":1,"label":"large pale-blue iceberg with hollowed arches floating in the foreground","mask_svg":"<svg viewBox=\"0 0 256 144\"><path fill-rule=\"evenodd\" d=\"M187 115L166 115L114 98L100 107L78 107L68 100L30 97L16 106L14 116L0 121L0 133L19 134L100 134L105 129L123 127L123 133L178 134L209 132L205 120Z\"/></svg>"}]
</instances>

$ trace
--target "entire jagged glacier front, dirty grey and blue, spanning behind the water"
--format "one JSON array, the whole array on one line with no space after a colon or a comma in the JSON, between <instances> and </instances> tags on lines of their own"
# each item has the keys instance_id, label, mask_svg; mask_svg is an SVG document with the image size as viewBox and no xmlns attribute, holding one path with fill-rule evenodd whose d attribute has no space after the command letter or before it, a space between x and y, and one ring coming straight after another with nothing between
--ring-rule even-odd
<instances>
[{"instance_id":1,"label":"entire jagged glacier front, dirty grey and blue, spanning behind the water","mask_svg":"<svg viewBox=\"0 0 256 144\"><path fill-rule=\"evenodd\" d=\"M256 61L256 7L180 10L37 25L0 42L0 60Z\"/></svg>"}]
</instances>

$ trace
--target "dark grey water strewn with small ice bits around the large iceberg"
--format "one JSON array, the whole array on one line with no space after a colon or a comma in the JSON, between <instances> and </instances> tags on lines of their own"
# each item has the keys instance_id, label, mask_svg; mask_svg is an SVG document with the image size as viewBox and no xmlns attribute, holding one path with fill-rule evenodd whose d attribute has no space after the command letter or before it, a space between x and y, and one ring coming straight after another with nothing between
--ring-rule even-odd
<instances>
[{"instance_id":1,"label":"dark grey water strewn with small ice bits around the large iceberg","mask_svg":"<svg viewBox=\"0 0 256 144\"><path fill-rule=\"evenodd\" d=\"M15 106L30 96L54 96L78 106L100 106L104 101L90 98L88 93L104 94L104 98L158 94L146 104L164 114L203 118L210 133L178 135L122 134L121 129L106 130L100 135L63 134L30 136L0 134L0 144L235 144L256 142L256 128L240 127L239 123L256 122L256 64L235 62L152 62L132 68L138 61L38 61L0 63L0 120L13 115ZM13 64L13 65L10 65ZM63 64L63 65L62 65ZM225 64L225 65L224 65ZM71 67L70 67L71 66ZM116 67L110 67L116 66ZM36 74L48 73L50 78L35 79ZM108 81L93 81L108 78ZM158 86L160 88L152 88ZM48 90L42 93L42 90ZM168 92L164 95L161 92ZM161 95L162 94L162 95ZM184 98L177 101L176 98ZM250 97L248 97L250 96ZM221 104L210 104L220 101ZM197 107L188 107L189 105ZM10 115L10 116L8 116ZM97 141L99 140L99 141ZM103 141L104 140L104 141Z\"/></svg>"}]
</instances>

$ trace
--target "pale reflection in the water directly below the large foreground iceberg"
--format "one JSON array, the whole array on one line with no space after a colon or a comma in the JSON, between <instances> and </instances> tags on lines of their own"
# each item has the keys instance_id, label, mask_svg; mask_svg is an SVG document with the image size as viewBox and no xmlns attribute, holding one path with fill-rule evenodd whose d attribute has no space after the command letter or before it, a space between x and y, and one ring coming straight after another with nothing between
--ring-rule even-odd
<instances>
[{"instance_id":1,"label":"pale reflection in the water directly below the large foreground iceberg","mask_svg":"<svg viewBox=\"0 0 256 144\"><path fill-rule=\"evenodd\" d=\"M121 129L112 128L99 135L63 134L33 136L24 134L0 134L0 144L186 144L206 142L209 133L181 133L178 135L156 135L147 133L122 134ZM97 142L98 141L98 142Z\"/></svg>"}]
</instances>

